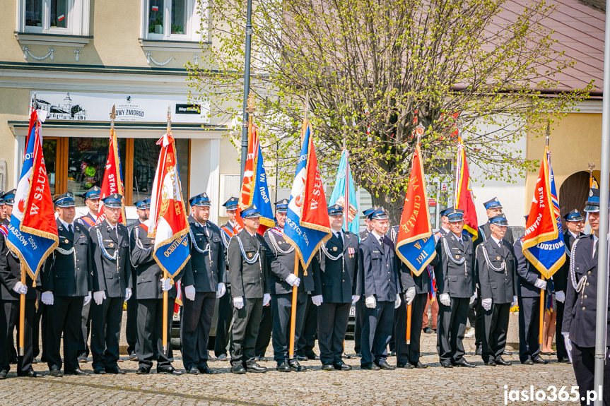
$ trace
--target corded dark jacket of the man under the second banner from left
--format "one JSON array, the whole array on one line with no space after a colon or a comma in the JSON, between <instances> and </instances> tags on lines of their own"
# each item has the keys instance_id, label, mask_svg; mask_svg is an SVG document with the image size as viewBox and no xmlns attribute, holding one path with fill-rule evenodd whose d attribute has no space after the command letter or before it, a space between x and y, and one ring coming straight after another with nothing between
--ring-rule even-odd
<instances>
[{"instance_id":1,"label":"corded dark jacket of the man under the second banner from left","mask_svg":"<svg viewBox=\"0 0 610 406\"><path fill-rule=\"evenodd\" d=\"M93 241L93 292L104 290L106 297L125 297L125 289L132 287L129 234L127 227L117 224L111 231L107 220L89 229ZM103 249L103 250L102 250ZM110 259L118 252L117 259Z\"/></svg>"}]
</instances>

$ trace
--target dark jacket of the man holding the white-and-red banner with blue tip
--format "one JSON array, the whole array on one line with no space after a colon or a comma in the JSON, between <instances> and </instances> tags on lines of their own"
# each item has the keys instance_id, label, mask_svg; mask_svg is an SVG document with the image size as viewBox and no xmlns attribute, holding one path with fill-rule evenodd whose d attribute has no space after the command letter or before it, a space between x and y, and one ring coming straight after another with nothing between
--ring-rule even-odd
<instances>
[{"instance_id":1,"label":"dark jacket of the man holding the white-and-red banner with blue tip","mask_svg":"<svg viewBox=\"0 0 610 406\"><path fill-rule=\"evenodd\" d=\"M131 229L131 265L136 273L136 299L163 299L161 289L161 278L163 270L158 265L153 253L155 251L155 239L148 238L148 228L140 224ZM184 268L187 268L184 265ZM174 281L180 279L184 269L174 277ZM176 285L168 290L168 297L175 299L177 294Z\"/></svg>"}]
</instances>

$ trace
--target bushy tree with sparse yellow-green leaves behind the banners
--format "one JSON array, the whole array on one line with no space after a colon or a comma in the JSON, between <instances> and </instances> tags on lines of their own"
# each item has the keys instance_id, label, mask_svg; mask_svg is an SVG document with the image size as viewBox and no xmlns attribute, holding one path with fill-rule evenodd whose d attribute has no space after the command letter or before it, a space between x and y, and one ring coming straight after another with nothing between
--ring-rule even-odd
<instances>
[{"instance_id":1,"label":"bushy tree with sparse yellow-green leaves behind the banners","mask_svg":"<svg viewBox=\"0 0 610 406\"><path fill-rule=\"evenodd\" d=\"M214 1L211 44L188 67L192 98L226 118L241 116L245 10L246 0ZM291 181L307 102L322 173L334 177L345 145L376 205L401 204L417 124L429 176L447 173L459 126L486 179L523 177L535 162L515 141L544 133L592 87L558 90L554 76L574 62L541 24L554 11L539 0L255 0L251 89L265 153Z\"/></svg>"}]
</instances>

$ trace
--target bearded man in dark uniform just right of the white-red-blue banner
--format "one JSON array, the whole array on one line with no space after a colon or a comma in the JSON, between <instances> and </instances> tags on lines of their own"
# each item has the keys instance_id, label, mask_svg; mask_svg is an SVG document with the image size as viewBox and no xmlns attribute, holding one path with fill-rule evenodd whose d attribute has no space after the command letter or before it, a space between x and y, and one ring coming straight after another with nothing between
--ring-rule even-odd
<instances>
[{"instance_id":1,"label":"bearded man in dark uniform just right of the white-red-blue banner","mask_svg":"<svg viewBox=\"0 0 610 406\"><path fill-rule=\"evenodd\" d=\"M216 298L226 293L225 248L221 230L208 220L208 195L201 193L190 198L189 203L191 259L182 277L182 363L189 374L218 374L208 366L208 338Z\"/></svg>"}]
</instances>

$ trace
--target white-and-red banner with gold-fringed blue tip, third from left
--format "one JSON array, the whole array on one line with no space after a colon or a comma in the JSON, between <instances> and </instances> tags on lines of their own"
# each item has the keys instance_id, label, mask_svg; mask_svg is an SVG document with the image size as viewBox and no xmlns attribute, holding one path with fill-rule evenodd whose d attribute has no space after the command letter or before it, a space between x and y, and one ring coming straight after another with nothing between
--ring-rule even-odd
<instances>
[{"instance_id":1,"label":"white-and-red banner with gold-fringed blue tip, third from left","mask_svg":"<svg viewBox=\"0 0 610 406\"><path fill-rule=\"evenodd\" d=\"M189 222L182 200L180 173L176 160L176 144L166 133L157 141L161 145L157 172L151 195L151 216L148 237L155 239L153 258L173 279L191 257Z\"/></svg>"}]
</instances>

